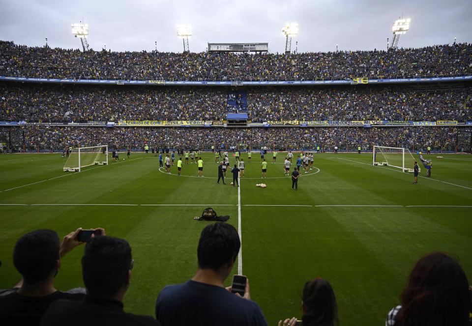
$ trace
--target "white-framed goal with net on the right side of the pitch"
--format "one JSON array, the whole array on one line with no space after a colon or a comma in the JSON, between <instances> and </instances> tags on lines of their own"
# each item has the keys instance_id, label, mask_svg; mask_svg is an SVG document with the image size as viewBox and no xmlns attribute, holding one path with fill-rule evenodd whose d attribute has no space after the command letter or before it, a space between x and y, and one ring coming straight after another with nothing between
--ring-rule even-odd
<instances>
[{"instance_id":1,"label":"white-framed goal with net on the right side of the pitch","mask_svg":"<svg viewBox=\"0 0 472 326\"><path fill-rule=\"evenodd\" d=\"M408 148L374 146L373 165L388 165L399 168L403 172L413 172L414 161Z\"/></svg>"}]
</instances>

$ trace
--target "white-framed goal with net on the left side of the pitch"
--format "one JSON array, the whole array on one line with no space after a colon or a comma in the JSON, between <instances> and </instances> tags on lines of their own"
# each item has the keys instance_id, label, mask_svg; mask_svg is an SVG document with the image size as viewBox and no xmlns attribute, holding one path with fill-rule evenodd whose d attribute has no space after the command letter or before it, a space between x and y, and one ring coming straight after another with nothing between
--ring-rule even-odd
<instances>
[{"instance_id":1,"label":"white-framed goal with net on the left side of the pitch","mask_svg":"<svg viewBox=\"0 0 472 326\"><path fill-rule=\"evenodd\" d=\"M108 164L108 146L78 147L69 153L64 171L79 171L85 166Z\"/></svg>"}]
</instances>

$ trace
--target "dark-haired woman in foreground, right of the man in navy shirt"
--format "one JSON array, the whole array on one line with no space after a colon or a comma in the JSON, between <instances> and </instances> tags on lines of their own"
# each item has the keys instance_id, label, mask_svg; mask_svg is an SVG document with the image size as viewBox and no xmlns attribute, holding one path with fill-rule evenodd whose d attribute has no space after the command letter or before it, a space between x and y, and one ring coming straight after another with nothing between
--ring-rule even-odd
<instances>
[{"instance_id":1,"label":"dark-haired woman in foreground, right of the man in navy shirt","mask_svg":"<svg viewBox=\"0 0 472 326\"><path fill-rule=\"evenodd\" d=\"M303 317L279 321L279 326L333 326L338 324L338 306L333 288L321 277L305 283L302 294Z\"/></svg>"}]
</instances>

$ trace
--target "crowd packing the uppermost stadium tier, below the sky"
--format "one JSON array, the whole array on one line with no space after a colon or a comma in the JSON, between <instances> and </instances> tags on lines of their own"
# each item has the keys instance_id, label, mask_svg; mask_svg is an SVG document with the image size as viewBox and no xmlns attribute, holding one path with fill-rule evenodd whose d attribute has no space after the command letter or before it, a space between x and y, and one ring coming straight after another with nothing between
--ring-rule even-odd
<instances>
[{"instance_id":1,"label":"crowd packing the uppermost stadium tier, below the sky","mask_svg":"<svg viewBox=\"0 0 472 326\"><path fill-rule=\"evenodd\" d=\"M472 45L297 54L111 52L0 41L0 75L98 80L342 80L472 75Z\"/></svg>"}]
</instances>

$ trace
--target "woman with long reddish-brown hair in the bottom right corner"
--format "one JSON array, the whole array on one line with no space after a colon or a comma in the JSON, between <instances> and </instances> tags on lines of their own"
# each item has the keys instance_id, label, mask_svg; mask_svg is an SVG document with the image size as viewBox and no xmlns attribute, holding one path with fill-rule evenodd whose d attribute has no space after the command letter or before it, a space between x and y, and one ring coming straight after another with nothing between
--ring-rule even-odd
<instances>
[{"instance_id":1,"label":"woman with long reddish-brown hair in the bottom right corner","mask_svg":"<svg viewBox=\"0 0 472 326\"><path fill-rule=\"evenodd\" d=\"M386 326L470 326L471 293L466 274L452 257L432 252L413 267L401 305Z\"/></svg>"}]
</instances>

